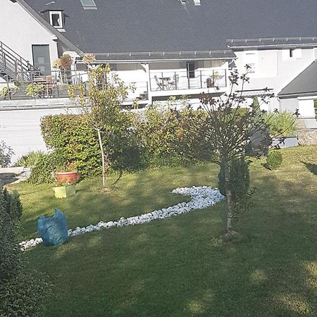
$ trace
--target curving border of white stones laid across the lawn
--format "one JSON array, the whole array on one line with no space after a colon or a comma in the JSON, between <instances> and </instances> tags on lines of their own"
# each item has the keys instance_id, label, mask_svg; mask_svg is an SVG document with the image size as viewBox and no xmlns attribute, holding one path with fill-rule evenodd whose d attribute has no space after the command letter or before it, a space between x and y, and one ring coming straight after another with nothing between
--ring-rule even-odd
<instances>
[{"instance_id":1,"label":"curving border of white stones laid across the lawn","mask_svg":"<svg viewBox=\"0 0 317 317\"><path fill-rule=\"evenodd\" d=\"M208 186L202 187L182 187L173 190L174 194L189 195L192 197L189 202L182 202L175 206L168 208L163 208L160 210L154 210L151 213L143 213L139 216L133 216L129 218L121 217L116 221L100 221L97 225L88 225L87 227L77 227L75 230L68 230L68 237L73 237L75 235L82 235L86 232L99 231L102 229L109 229L113 227L123 227L125 225L139 225L141 223L149 223L152 220L159 220L164 218L169 218L172 216L177 216L182 213L189 213L195 209L204 209L209 206L213 206L218 201L223 200L225 197L220 194L217 188L211 188ZM35 247L37 244L42 243L42 238L36 238L32 240L27 240L21 242L20 248L23 250L29 249L30 247Z\"/></svg>"}]
</instances>

